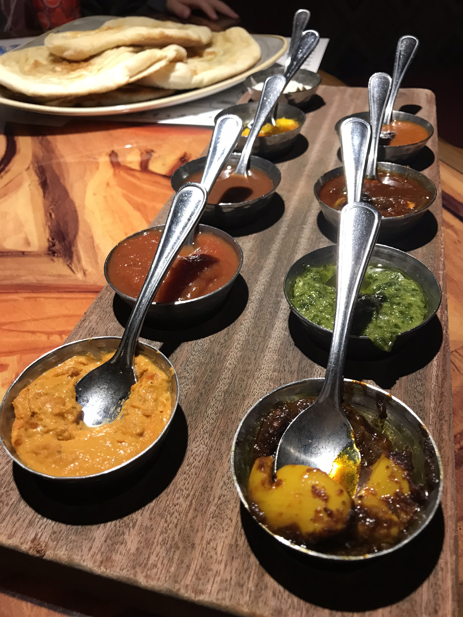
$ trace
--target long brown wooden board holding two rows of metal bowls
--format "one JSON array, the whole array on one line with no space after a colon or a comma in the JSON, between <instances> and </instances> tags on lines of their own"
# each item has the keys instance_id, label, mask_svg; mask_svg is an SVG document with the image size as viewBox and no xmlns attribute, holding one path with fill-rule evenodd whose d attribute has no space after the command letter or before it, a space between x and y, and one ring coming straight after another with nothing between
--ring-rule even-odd
<instances>
[{"instance_id":1,"label":"long brown wooden board holding two rows of metal bowls","mask_svg":"<svg viewBox=\"0 0 463 617\"><path fill-rule=\"evenodd\" d=\"M322 173L340 165L333 126L367 108L367 91L321 87L319 93L319 107L302 128L300 154L279 164L278 196L262 220L235 232L244 266L227 304L201 326L165 332L151 324L143 330L169 356L180 380L181 408L161 457L116 487L64 491L13 468L1 452L3 560L53 572L112 598L130 593L134 603L159 615L456 615L453 423L436 134L418 163L435 182L438 198L398 246L440 281L438 318L398 354L349 361L345 373L391 389L430 429L444 468L441 508L417 539L391 557L333 567L299 560L273 542L240 508L231 479L231 442L249 407L281 384L325 370L327 354L290 317L283 278L294 260L330 242L312 188ZM430 91L401 91L398 103L422 107L419 114L436 126ZM120 335L113 299L104 288L68 340ZM119 302L114 309L121 321L127 318Z\"/></svg>"}]
</instances>

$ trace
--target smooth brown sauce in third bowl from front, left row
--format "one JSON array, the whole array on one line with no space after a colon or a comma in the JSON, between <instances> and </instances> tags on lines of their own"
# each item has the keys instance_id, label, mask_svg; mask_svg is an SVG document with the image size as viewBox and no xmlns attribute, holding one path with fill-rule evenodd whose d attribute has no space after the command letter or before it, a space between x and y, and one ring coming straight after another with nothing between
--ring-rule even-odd
<instances>
[{"instance_id":1,"label":"smooth brown sauce in third bowl from front, left row","mask_svg":"<svg viewBox=\"0 0 463 617\"><path fill-rule=\"evenodd\" d=\"M194 173L186 182L201 182L202 172ZM235 168L227 165L215 181L209 204L240 204L252 201L273 191L273 182L269 176L256 167L251 167L246 176L235 174Z\"/></svg>"}]
</instances>

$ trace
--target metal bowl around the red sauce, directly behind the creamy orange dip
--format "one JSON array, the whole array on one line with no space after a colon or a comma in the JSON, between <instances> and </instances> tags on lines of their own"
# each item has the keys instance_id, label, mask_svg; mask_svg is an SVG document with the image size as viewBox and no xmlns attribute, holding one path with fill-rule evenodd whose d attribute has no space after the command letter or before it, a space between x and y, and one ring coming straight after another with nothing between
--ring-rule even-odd
<instances>
[{"instance_id":1,"label":"metal bowl around the red sauce, directly behind the creamy orange dip","mask_svg":"<svg viewBox=\"0 0 463 617\"><path fill-rule=\"evenodd\" d=\"M117 289L107 274L107 267L111 260L111 256L114 254L119 244L125 242L127 239L143 236L143 234L149 233L151 230L162 231L163 229L164 225L157 225L155 227L149 227L146 230L137 231L116 244L114 249L112 249L106 257L106 261L104 262L104 276L106 277L106 281L109 286L114 289L116 294L131 307L135 305L136 298L127 296ZM206 296L200 296L199 298L193 298L191 300L178 300L178 302L152 302L147 315L151 320L156 320L159 326L194 323L197 320L207 317L207 315L211 315L223 304L223 302L225 302L233 283L235 283L236 277L240 274L241 267L243 266L243 251L241 251L241 247L238 242L236 242L235 238L232 238L228 233L225 233L225 231L216 229L215 227L209 227L209 225L199 225L199 231L215 234L219 236L219 238L225 240L227 244L230 244L233 251L236 253L236 257L238 257L238 270L236 270L235 276L233 276L228 283L225 283L225 285L215 291L211 291L211 293L206 294Z\"/></svg>"}]
</instances>

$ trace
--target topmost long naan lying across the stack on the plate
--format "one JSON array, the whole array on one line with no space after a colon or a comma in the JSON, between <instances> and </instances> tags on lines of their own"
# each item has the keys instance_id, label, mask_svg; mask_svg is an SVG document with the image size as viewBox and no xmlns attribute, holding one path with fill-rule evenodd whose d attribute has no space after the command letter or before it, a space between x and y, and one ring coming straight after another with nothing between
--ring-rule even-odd
<instances>
[{"instance_id":1,"label":"topmost long naan lying across the stack on the plate","mask_svg":"<svg viewBox=\"0 0 463 617\"><path fill-rule=\"evenodd\" d=\"M122 46L182 47L204 45L211 41L207 26L161 22L150 17L111 19L98 30L68 31L49 34L44 44L56 56L67 60L85 60L106 49Z\"/></svg>"}]
</instances>

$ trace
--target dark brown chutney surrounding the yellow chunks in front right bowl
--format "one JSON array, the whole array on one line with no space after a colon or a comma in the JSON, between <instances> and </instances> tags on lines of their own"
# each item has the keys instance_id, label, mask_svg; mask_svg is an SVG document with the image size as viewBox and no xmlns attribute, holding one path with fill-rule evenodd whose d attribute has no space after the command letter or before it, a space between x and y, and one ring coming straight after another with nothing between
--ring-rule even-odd
<instances>
[{"instance_id":1,"label":"dark brown chutney surrounding the yellow chunks in front right bowl","mask_svg":"<svg viewBox=\"0 0 463 617\"><path fill-rule=\"evenodd\" d=\"M315 397L305 397L294 401L284 401L272 408L269 415L264 419L254 443L254 461L261 457L273 457L277 445L286 428L292 420L311 405ZM332 555L365 555L386 550L398 544L407 536L408 530L422 517L422 508L427 500L428 491L432 489L435 478L428 478L427 486L419 486L412 480L413 466L411 452L403 450L394 451L388 437L380 430L372 426L365 418L348 404L343 404L344 412L348 416L354 440L361 453L361 465L359 469L359 491L367 481L372 466L380 457L386 455L391 461L403 470L403 477L410 486L410 494L397 493L388 497L388 503L393 508L399 519L406 521L399 536L388 536L388 521L385 518L375 518L372 511L362 506L362 501L354 496L350 522L344 531L335 536L323 538L318 541L307 542L297 526L286 529L271 529L278 535L286 537L295 544L307 547L317 552ZM425 452L426 457L426 452ZM265 524L265 515L259 510L256 503L250 505L251 513L259 522Z\"/></svg>"}]
</instances>

